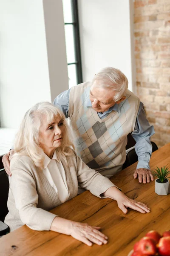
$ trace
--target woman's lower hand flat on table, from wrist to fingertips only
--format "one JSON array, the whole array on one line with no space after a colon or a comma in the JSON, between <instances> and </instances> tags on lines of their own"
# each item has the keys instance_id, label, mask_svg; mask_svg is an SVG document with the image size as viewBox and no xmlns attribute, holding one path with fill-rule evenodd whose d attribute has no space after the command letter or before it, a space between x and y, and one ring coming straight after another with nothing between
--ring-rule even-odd
<instances>
[{"instance_id":1,"label":"woman's lower hand flat on table, from wrist to fingertips only","mask_svg":"<svg viewBox=\"0 0 170 256\"><path fill-rule=\"evenodd\" d=\"M108 237L100 231L100 227L92 227L87 223L73 222L70 235L75 239L91 246L92 243L107 244Z\"/></svg>"}]
</instances>

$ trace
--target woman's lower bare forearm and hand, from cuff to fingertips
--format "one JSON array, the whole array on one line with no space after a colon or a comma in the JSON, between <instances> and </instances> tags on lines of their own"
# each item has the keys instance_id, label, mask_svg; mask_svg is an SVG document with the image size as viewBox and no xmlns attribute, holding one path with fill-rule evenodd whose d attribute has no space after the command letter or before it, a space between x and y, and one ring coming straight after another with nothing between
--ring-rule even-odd
<instances>
[{"instance_id":1,"label":"woman's lower bare forearm and hand, from cuff to fingertips","mask_svg":"<svg viewBox=\"0 0 170 256\"><path fill-rule=\"evenodd\" d=\"M86 223L69 221L64 218L55 217L50 230L70 235L75 239L91 246L94 244L107 244L108 237L99 231L100 227L92 227Z\"/></svg>"}]
</instances>

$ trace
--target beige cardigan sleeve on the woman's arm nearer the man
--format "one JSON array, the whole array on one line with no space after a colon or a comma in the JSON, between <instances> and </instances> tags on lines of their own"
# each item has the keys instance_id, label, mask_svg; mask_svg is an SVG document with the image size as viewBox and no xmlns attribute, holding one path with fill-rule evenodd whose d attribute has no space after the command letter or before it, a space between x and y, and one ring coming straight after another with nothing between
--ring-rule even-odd
<instances>
[{"instance_id":1,"label":"beige cardigan sleeve on the woman's arm nearer the man","mask_svg":"<svg viewBox=\"0 0 170 256\"><path fill-rule=\"evenodd\" d=\"M99 198L105 198L102 194L115 185L99 172L89 168L77 154L75 155L77 158L77 180L79 186L90 190L93 195Z\"/></svg>"}]
</instances>

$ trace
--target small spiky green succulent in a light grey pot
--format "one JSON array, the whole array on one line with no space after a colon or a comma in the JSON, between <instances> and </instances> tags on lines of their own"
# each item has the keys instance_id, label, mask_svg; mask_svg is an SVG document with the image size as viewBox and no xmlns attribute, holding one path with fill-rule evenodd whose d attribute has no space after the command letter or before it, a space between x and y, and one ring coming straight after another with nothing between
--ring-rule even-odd
<instances>
[{"instance_id":1,"label":"small spiky green succulent in a light grey pot","mask_svg":"<svg viewBox=\"0 0 170 256\"><path fill-rule=\"evenodd\" d=\"M170 174L169 167L163 166L159 169L158 166L155 171L153 171L153 175L158 179L155 180L155 192L158 195L167 195L169 193L169 178L167 177Z\"/></svg>"}]
</instances>

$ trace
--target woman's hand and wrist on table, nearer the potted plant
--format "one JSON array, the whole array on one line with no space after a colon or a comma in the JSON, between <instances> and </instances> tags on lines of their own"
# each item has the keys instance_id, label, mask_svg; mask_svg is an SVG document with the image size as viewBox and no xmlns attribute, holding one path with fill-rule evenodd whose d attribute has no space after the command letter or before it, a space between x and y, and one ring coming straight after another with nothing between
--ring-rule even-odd
<instances>
[{"instance_id":1,"label":"woman's hand and wrist on table, nearer the potted plant","mask_svg":"<svg viewBox=\"0 0 170 256\"><path fill-rule=\"evenodd\" d=\"M150 212L150 208L148 208L145 204L142 204L140 202L137 202L133 199L128 198L125 194L123 194L118 188L114 186L109 188L103 195L105 197L116 200L118 207L125 214L127 213L128 207L141 213Z\"/></svg>"}]
</instances>

